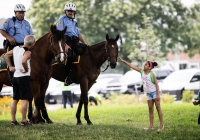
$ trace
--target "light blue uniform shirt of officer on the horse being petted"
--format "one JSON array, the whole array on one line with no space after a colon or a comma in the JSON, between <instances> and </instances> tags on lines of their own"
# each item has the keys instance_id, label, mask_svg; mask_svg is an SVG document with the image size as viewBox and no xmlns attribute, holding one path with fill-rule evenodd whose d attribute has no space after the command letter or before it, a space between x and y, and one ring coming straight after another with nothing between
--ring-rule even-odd
<instances>
[{"instance_id":1,"label":"light blue uniform shirt of officer on the horse being petted","mask_svg":"<svg viewBox=\"0 0 200 140\"><path fill-rule=\"evenodd\" d=\"M56 26L58 30L63 30L67 26L67 30L65 35L72 37L76 36L78 37L80 34L80 31L77 26L77 22L73 19L68 18L66 15L60 17L58 21L56 22Z\"/></svg>"}]
</instances>

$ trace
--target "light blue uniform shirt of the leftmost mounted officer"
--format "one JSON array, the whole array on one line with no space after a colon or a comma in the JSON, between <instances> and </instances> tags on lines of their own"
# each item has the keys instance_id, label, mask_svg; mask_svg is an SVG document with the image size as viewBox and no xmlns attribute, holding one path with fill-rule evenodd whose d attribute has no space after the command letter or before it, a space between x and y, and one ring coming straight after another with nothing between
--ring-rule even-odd
<instances>
[{"instance_id":1,"label":"light blue uniform shirt of the leftmost mounted officer","mask_svg":"<svg viewBox=\"0 0 200 140\"><path fill-rule=\"evenodd\" d=\"M16 34L14 35L14 26L16 28ZM14 24L12 18L8 18L0 28L8 33L11 37L15 39L16 43L24 43L24 38L27 35L32 35L33 31L28 21L23 20L20 22L17 18ZM14 36L13 36L14 35Z\"/></svg>"}]
</instances>

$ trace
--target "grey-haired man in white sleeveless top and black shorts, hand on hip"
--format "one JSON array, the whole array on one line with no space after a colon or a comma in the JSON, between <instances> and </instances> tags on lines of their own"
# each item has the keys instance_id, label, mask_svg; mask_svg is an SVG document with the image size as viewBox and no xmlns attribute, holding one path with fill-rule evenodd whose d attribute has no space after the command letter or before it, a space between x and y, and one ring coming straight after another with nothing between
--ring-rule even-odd
<instances>
[{"instance_id":1,"label":"grey-haired man in white sleeveless top and black shorts, hand on hip","mask_svg":"<svg viewBox=\"0 0 200 140\"><path fill-rule=\"evenodd\" d=\"M13 83L13 101L11 104L11 125L18 125L16 120L17 103L22 101L21 113L22 121L21 125L26 126L30 123L26 120L26 113L28 109L28 100L32 98L31 83L30 83L30 49L35 45L35 37L28 35L24 39L24 45L16 46L13 50L8 51L5 54L5 60L9 66L9 70L14 72ZM13 56L15 67L10 61L10 57Z\"/></svg>"}]
</instances>

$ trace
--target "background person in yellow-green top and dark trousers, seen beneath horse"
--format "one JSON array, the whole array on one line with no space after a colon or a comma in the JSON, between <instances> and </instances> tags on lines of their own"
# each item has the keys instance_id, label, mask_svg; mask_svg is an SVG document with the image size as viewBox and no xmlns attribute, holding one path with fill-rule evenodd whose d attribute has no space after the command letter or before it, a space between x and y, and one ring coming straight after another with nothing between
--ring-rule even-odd
<instances>
[{"instance_id":1,"label":"background person in yellow-green top and dark trousers, seen beneath horse","mask_svg":"<svg viewBox=\"0 0 200 140\"><path fill-rule=\"evenodd\" d=\"M62 82L62 96L63 96L63 108L66 108L67 99L69 101L69 105L73 108L73 96L70 90L70 86L65 86Z\"/></svg>"}]
</instances>

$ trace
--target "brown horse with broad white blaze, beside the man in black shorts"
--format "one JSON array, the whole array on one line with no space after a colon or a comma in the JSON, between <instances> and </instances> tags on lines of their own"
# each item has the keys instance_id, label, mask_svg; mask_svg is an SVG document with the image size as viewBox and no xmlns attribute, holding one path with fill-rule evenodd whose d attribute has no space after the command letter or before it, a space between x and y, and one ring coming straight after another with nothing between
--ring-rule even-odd
<instances>
[{"instance_id":1,"label":"brown horse with broad white blaze, beside the man in black shorts","mask_svg":"<svg viewBox=\"0 0 200 140\"><path fill-rule=\"evenodd\" d=\"M44 122L40 110L46 110L44 97L52 75L52 60L56 59L59 63L65 61L65 32L66 28L59 31L55 25L51 25L51 32L38 39L31 50L31 87L35 109L34 114L32 114L32 100L30 100L28 118L34 123ZM1 50L0 53L2 52L4 51ZM0 86L3 84L11 85L7 71L0 72ZM42 116L46 118L48 123L52 123L47 113L43 112Z\"/></svg>"}]
</instances>

